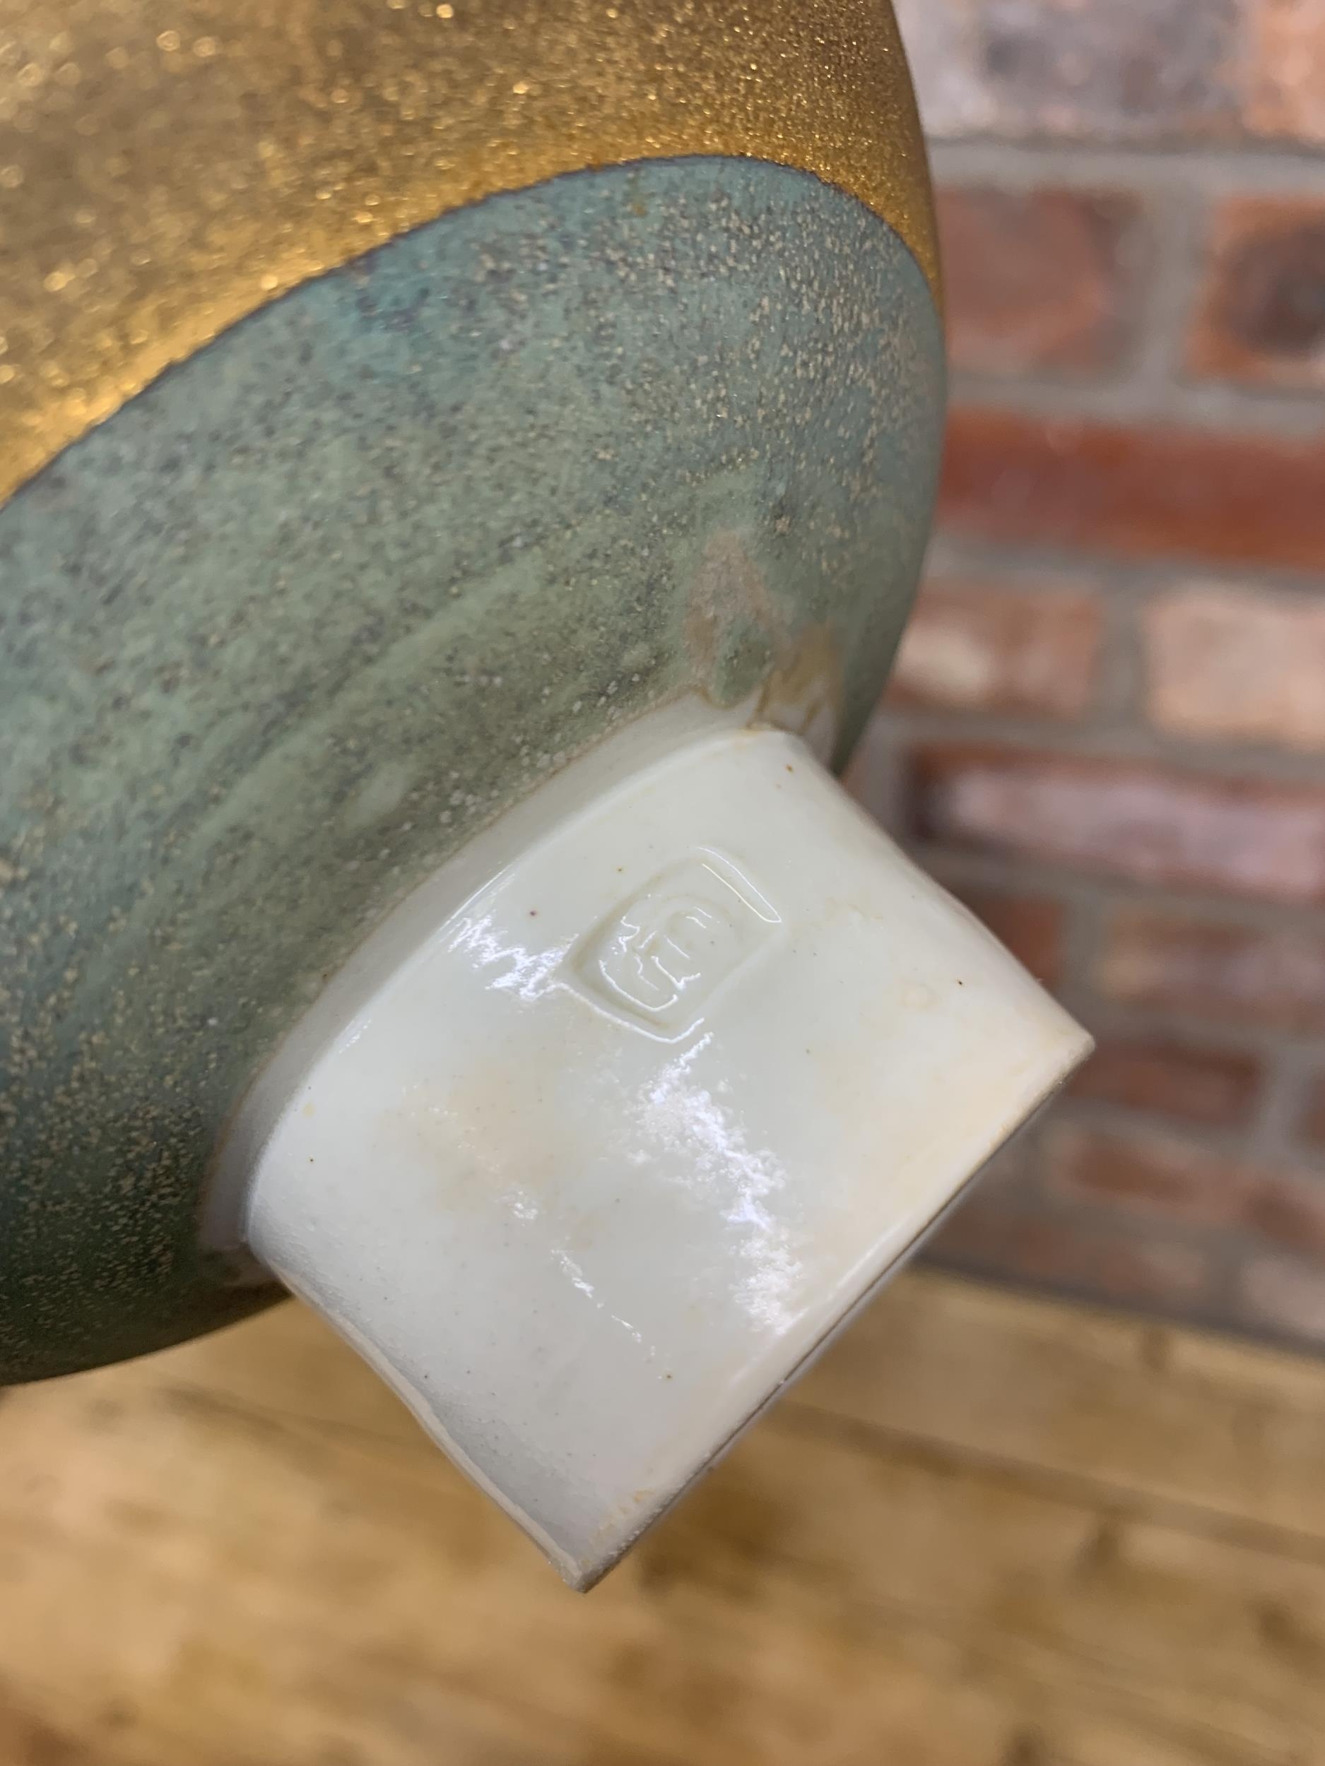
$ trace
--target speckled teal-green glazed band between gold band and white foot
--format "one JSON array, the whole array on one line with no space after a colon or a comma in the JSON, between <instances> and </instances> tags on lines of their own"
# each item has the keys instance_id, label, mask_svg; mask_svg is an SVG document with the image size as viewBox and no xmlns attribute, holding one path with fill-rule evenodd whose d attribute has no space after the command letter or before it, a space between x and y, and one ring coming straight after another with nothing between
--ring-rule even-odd
<instances>
[{"instance_id":1,"label":"speckled teal-green glazed band between gold band and white foot","mask_svg":"<svg viewBox=\"0 0 1325 1766\"><path fill-rule=\"evenodd\" d=\"M226 1120L366 929L549 770L682 692L781 673L776 713L807 671L846 752L940 408L929 290L876 215L655 161L300 288L0 510L0 1377L265 1298L196 1249Z\"/></svg>"}]
</instances>

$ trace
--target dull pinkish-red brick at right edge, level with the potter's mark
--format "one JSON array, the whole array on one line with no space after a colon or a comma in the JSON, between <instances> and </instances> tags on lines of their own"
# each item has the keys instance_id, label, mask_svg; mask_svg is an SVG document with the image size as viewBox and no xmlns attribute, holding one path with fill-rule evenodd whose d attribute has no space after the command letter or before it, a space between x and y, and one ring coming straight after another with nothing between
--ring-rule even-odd
<instances>
[{"instance_id":1,"label":"dull pinkish-red brick at right edge, level with the potter's mark","mask_svg":"<svg viewBox=\"0 0 1325 1766\"><path fill-rule=\"evenodd\" d=\"M1325 938L1120 908L1095 966L1101 992L1125 1005L1203 1019L1325 1030Z\"/></svg>"}]
</instances>

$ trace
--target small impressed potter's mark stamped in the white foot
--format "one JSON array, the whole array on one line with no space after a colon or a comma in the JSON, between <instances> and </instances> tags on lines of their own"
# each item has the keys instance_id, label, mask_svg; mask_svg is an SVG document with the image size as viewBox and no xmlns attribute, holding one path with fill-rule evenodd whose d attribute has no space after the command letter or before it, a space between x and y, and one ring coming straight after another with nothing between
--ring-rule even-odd
<instances>
[{"instance_id":1,"label":"small impressed potter's mark stamped in the white foot","mask_svg":"<svg viewBox=\"0 0 1325 1766\"><path fill-rule=\"evenodd\" d=\"M671 1040L691 1030L705 1000L779 924L751 879L705 849L661 871L601 920L571 966L594 1005Z\"/></svg>"}]
</instances>

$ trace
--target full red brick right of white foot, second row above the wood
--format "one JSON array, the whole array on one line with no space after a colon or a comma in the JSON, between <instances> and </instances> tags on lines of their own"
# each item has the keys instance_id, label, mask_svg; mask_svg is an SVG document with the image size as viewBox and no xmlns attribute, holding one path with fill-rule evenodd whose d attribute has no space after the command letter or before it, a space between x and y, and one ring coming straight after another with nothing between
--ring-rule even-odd
<instances>
[{"instance_id":1,"label":"full red brick right of white foot, second row above the wood","mask_svg":"<svg viewBox=\"0 0 1325 1766\"><path fill-rule=\"evenodd\" d=\"M1044 1136L1046 1183L1065 1196L1127 1203L1173 1220L1233 1226L1265 1174L1175 1136L1115 1134L1058 1121Z\"/></svg>"}]
</instances>

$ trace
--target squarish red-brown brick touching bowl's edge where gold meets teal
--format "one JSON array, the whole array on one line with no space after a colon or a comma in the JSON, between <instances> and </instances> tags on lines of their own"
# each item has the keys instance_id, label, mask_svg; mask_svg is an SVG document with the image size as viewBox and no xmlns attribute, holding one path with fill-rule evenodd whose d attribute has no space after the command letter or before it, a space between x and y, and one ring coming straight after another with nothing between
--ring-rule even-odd
<instances>
[{"instance_id":1,"label":"squarish red-brown brick touching bowl's edge where gold meets teal","mask_svg":"<svg viewBox=\"0 0 1325 1766\"><path fill-rule=\"evenodd\" d=\"M947 337L963 373L1092 378L1136 334L1140 203L1118 192L938 192Z\"/></svg>"}]
</instances>

